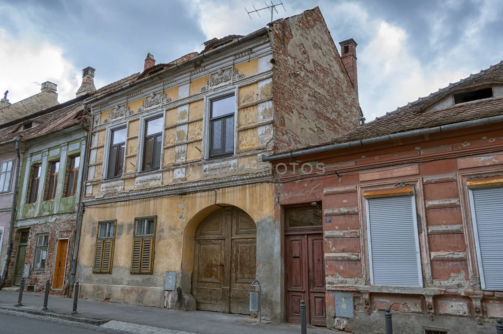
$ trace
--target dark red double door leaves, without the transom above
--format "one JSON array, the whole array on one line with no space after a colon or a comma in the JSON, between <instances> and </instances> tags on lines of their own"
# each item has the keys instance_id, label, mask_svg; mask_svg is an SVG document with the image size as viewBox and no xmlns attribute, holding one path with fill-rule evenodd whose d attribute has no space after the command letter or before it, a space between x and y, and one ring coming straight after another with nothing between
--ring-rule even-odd
<instances>
[{"instance_id":1,"label":"dark red double door leaves, without the transom above","mask_svg":"<svg viewBox=\"0 0 503 334\"><path fill-rule=\"evenodd\" d=\"M303 299L307 322L326 326L323 234L290 234L285 242L287 321L300 322Z\"/></svg>"}]
</instances>

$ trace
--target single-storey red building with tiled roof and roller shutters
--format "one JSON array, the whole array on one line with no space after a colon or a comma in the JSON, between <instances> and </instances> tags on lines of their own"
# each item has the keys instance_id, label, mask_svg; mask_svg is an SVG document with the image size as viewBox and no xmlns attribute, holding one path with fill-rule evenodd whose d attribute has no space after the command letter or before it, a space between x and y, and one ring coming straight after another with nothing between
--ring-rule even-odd
<instances>
[{"instance_id":1,"label":"single-storey red building with tiled roof and roller shutters","mask_svg":"<svg viewBox=\"0 0 503 334\"><path fill-rule=\"evenodd\" d=\"M264 156L285 319L305 299L310 323L354 333L384 332L386 307L396 332L494 332L502 129L500 62L323 145Z\"/></svg>"}]
</instances>

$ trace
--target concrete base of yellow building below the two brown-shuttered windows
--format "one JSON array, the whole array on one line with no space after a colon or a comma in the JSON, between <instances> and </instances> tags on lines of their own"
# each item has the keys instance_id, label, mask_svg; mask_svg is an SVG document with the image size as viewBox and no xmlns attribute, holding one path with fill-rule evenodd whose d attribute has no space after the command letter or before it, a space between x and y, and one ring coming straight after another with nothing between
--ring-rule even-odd
<instances>
[{"instance_id":1,"label":"concrete base of yellow building below the two brown-shuttered windows","mask_svg":"<svg viewBox=\"0 0 503 334\"><path fill-rule=\"evenodd\" d=\"M164 307L164 289L157 287L82 283L80 298L129 305Z\"/></svg>"}]
</instances>

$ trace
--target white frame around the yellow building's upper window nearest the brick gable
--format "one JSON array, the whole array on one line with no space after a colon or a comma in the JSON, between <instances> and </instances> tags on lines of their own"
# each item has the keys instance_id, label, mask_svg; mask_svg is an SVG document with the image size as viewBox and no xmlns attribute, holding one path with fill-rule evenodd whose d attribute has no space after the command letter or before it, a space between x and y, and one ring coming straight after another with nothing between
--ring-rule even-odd
<instances>
[{"instance_id":1,"label":"white frame around the yellow building's upper window nearest the brick gable","mask_svg":"<svg viewBox=\"0 0 503 334\"><path fill-rule=\"evenodd\" d=\"M233 157L236 155L237 149L237 121L238 121L238 88L234 87L227 90L218 91L212 94L208 94L204 97L204 117L203 117L203 158L205 160L221 160L228 157ZM229 155L210 157L210 113L211 113L211 102L213 100L218 100L224 98L225 96L234 94L234 152Z\"/></svg>"}]
</instances>

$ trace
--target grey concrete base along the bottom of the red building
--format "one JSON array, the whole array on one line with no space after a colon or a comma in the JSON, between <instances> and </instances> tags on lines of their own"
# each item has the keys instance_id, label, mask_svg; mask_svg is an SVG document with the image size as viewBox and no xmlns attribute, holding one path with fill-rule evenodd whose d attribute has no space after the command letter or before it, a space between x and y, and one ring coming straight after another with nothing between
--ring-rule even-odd
<instances>
[{"instance_id":1,"label":"grey concrete base along the bottom of the red building","mask_svg":"<svg viewBox=\"0 0 503 334\"><path fill-rule=\"evenodd\" d=\"M472 317L436 315L430 320L423 314L403 314L392 312L393 332L424 334L424 327L447 329L450 333L493 334L496 332L494 319L485 319L483 325L475 323ZM353 318L327 316L328 328L350 331L355 334L382 334L385 332L384 311L355 312Z\"/></svg>"}]
</instances>

